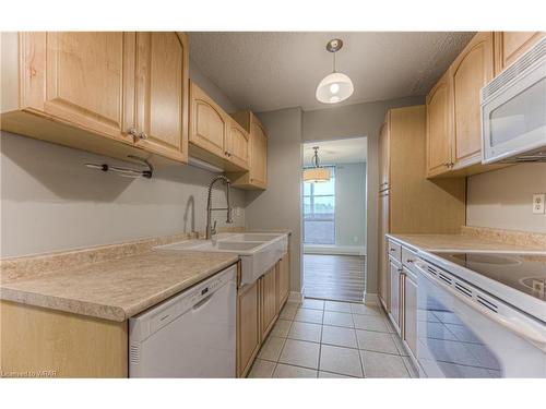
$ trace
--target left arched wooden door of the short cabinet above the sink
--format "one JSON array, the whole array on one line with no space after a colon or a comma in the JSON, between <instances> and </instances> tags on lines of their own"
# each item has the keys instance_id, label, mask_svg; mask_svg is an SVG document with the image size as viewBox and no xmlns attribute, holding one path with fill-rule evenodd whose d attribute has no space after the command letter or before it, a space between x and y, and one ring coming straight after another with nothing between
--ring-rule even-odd
<instances>
[{"instance_id":1,"label":"left arched wooden door of the short cabinet above the sink","mask_svg":"<svg viewBox=\"0 0 546 409\"><path fill-rule=\"evenodd\" d=\"M199 86L191 83L190 88L190 142L217 157L227 157L229 118Z\"/></svg>"}]
</instances>

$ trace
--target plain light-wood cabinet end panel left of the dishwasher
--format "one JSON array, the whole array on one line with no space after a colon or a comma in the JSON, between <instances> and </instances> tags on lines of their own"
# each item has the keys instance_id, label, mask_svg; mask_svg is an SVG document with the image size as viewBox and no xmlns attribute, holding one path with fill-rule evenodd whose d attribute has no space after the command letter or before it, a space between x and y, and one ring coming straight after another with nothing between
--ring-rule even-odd
<instances>
[{"instance_id":1,"label":"plain light-wood cabinet end panel left of the dishwasher","mask_svg":"<svg viewBox=\"0 0 546 409\"><path fill-rule=\"evenodd\" d=\"M127 321L0 301L0 322L2 376L128 376Z\"/></svg>"}]
</instances>

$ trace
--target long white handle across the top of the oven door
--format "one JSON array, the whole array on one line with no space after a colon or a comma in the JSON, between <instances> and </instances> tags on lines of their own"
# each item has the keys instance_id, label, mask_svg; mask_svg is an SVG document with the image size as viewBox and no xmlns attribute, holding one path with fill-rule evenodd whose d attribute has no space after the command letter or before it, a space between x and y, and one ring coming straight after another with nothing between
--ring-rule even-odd
<instances>
[{"instance_id":1,"label":"long white handle across the top of the oven door","mask_svg":"<svg viewBox=\"0 0 546 409\"><path fill-rule=\"evenodd\" d=\"M432 282L440 285L446 291L448 291L451 296L456 297L458 300L462 301L464 304L473 308L480 314L487 316L491 321L496 322L497 324L503 326L505 328L509 329L510 332L519 335L522 338L525 338L527 341L532 342L535 345L537 348L542 349L544 352L546 352L546 332L539 332L532 326L530 326L527 323L518 320L518 318L506 318L497 313L494 313L492 311L489 311L479 304L477 304L474 301L468 301L468 299L465 296L462 296L454 291L451 287L448 285L444 285L440 280L430 277L424 269L423 266L420 266L418 263L414 264L418 272L427 279L431 280ZM418 288L417 288L418 291Z\"/></svg>"}]
</instances>

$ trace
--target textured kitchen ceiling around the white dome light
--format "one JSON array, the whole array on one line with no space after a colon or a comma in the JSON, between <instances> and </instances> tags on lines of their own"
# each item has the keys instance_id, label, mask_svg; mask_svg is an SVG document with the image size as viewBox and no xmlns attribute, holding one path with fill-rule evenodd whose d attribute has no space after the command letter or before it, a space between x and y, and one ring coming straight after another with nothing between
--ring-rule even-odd
<instances>
[{"instance_id":1,"label":"textured kitchen ceiling around the white dome light","mask_svg":"<svg viewBox=\"0 0 546 409\"><path fill-rule=\"evenodd\" d=\"M317 84L332 71L331 38L345 43L337 71L355 93L340 105L425 95L473 33L201 33L190 57L240 109L325 108Z\"/></svg>"}]
</instances>

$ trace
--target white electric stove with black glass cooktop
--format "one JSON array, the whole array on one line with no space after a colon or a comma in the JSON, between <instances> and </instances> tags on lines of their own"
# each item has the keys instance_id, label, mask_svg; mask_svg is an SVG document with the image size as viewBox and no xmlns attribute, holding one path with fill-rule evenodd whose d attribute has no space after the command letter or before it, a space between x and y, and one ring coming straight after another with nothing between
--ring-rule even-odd
<instances>
[{"instance_id":1,"label":"white electric stove with black glass cooktop","mask_svg":"<svg viewBox=\"0 0 546 409\"><path fill-rule=\"evenodd\" d=\"M420 253L424 377L546 377L546 253Z\"/></svg>"}]
</instances>

